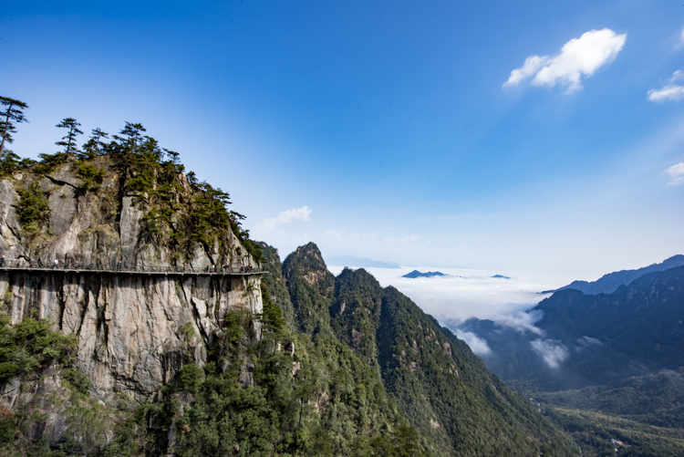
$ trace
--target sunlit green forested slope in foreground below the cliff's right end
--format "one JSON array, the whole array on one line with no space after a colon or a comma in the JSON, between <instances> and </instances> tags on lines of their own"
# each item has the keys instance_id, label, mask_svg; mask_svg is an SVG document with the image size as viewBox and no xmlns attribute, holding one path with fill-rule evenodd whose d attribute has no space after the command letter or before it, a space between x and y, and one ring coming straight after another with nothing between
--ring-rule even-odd
<instances>
[{"instance_id":1,"label":"sunlit green forested slope in foreground below the cliff's right end","mask_svg":"<svg viewBox=\"0 0 684 457\"><path fill-rule=\"evenodd\" d=\"M176 455L422 455L420 436L400 419L377 371L335 338L289 333L264 296L261 338L254 316L230 311L204 369L184 365L163 400L144 406L136 423L152 424L148 452L163 453L173 428ZM124 426L118 433L128 438L113 445L135 448L140 434Z\"/></svg>"}]
</instances>

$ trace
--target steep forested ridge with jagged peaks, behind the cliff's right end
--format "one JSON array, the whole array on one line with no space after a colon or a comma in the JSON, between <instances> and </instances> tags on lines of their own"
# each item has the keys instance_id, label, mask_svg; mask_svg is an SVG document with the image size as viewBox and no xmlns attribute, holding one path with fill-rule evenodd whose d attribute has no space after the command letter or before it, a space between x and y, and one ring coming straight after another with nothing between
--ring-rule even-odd
<instances>
[{"instance_id":1,"label":"steep forested ridge with jagged peaks, behind the cliff's right end","mask_svg":"<svg viewBox=\"0 0 684 457\"><path fill-rule=\"evenodd\" d=\"M364 270L333 277L315 244L298 248L283 269L299 327L316 343L334 334L326 338L344 341L376 369L430 453L574 453L531 404L397 289L383 289Z\"/></svg>"}]
</instances>

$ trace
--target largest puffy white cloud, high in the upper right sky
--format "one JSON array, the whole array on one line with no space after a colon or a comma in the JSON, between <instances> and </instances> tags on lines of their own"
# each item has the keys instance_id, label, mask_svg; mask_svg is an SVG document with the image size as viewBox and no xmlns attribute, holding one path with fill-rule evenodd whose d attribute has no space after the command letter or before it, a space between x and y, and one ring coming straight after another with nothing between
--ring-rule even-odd
<instances>
[{"instance_id":1,"label":"largest puffy white cloud, high in the upper right sky","mask_svg":"<svg viewBox=\"0 0 684 457\"><path fill-rule=\"evenodd\" d=\"M617 57L625 46L627 34L617 35L609 28L589 30L573 38L553 57L530 56L523 67L511 71L504 87L518 86L532 78L534 86L565 86L568 92L582 88L582 78L592 76Z\"/></svg>"}]
</instances>

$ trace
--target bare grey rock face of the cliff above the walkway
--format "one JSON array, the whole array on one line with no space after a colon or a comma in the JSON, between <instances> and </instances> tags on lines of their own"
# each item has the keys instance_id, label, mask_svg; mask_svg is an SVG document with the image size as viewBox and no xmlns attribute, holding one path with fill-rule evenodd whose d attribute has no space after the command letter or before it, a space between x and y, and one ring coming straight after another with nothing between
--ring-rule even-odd
<instances>
[{"instance_id":1,"label":"bare grey rock face of the cliff above the walkway","mask_svg":"<svg viewBox=\"0 0 684 457\"><path fill-rule=\"evenodd\" d=\"M126 266L186 265L202 270L212 265L255 265L244 246L229 230L224 239L213 245L195 244L190 258L179 260L178 255L164 249L144 230L143 216L150 209L145 195L123 192L118 175L110 170L108 157L91 161L106 171L97 192L79 192L78 162L69 161L45 175L17 172L12 178L0 181L0 250L8 258L23 257L52 265L70 261L83 265L115 266L122 261ZM190 193L184 175L178 175L182 187ZM22 235L17 219L18 190L37 183L47 193L50 220L44 234L29 243ZM186 195L186 205L192 204ZM182 198L179 197L179 198Z\"/></svg>"}]
</instances>

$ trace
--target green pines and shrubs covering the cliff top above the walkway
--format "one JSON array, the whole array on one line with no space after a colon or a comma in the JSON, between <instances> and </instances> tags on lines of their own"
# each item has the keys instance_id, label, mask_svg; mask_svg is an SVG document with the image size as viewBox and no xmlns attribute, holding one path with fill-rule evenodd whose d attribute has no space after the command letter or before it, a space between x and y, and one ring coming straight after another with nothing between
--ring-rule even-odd
<instances>
[{"instance_id":1,"label":"green pines and shrubs covering the cliff top above the walkway","mask_svg":"<svg viewBox=\"0 0 684 457\"><path fill-rule=\"evenodd\" d=\"M67 134L56 143L63 151L40 154L37 162L20 159L11 151L0 156L0 173L5 178L12 179L17 171L26 174L16 181L20 194L17 213L29 242L36 241L49 222L47 194L40 189L36 178L51 177L67 167L78 178L73 184L77 196L98 192L105 175L109 175L114 185L100 195L108 206L104 213L110 215L109 223L116 226L122 198L132 197L144 211L146 241L167 247L176 254L179 264L192 257L195 246L202 246L208 252L217 242L223 262L229 257L223 243L229 232L240 239L256 262L261 260L261 249L249 239L249 232L242 226L244 215L228 209L230 195L200 182L192 171L184 174L179 154L161 148L142 125L126 122L119 134L111 138L95 129L80 148L78 125L76 119L63 119L57 127L67 129Z\"/></svg>"}]
</instances>

